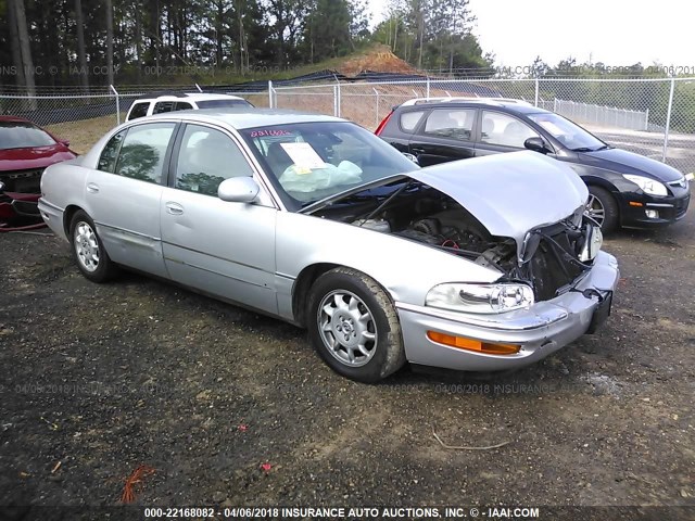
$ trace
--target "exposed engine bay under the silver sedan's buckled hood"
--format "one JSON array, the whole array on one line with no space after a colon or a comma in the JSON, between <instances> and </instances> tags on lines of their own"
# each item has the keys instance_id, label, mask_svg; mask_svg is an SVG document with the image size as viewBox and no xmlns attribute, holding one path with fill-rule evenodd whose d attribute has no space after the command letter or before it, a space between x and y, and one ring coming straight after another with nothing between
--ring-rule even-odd
<instances>
[{"instance_id":1,"label":"exposed engine bay under the silver sedan's buckled hood","mask_svg":"<svg viewBox=\"0 0 695 521\"><path fill-rule=\"evenodd\" d=\"M591 268L602 240L595 224L578 208L560 223L531 230L518 247L514 239L491 236L455 200L418 181L404 183L387 196L351 195L313 214L395 234L497 269L504 280L530 284L536 301L568 291Z\"/></svg>"}]
</instances>

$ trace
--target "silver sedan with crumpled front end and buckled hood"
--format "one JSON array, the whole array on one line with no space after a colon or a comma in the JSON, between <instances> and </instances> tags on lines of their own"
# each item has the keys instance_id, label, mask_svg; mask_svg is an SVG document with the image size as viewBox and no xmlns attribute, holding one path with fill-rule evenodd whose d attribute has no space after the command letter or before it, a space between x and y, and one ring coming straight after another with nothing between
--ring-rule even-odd
<instances>
[{"instance_id":1,"label":"silver sedan with crumpled front end and buckled hood","mask_svg":"<svg viewBox=\"0 0 695 521\"><path fill-rule=\"evenodd\" d=\"M610 313L619 277L568 167L532 152L419 169L343 119L177 112L41 181L46 223L102 282L169 279L308 330L337 372L539 360Z\"/></svg>"}]
</instances>

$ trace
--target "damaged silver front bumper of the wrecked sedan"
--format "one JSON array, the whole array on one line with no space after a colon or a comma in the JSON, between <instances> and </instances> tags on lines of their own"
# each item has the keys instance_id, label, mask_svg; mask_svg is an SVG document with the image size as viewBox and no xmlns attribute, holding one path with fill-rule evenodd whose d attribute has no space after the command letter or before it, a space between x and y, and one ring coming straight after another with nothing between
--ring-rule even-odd
<instances>
[{"instance_id":1,"label":"damaged silver front bumper of the wrecked sedan","mask_svg":"<svg viewBox=\"0 0 695 521\"><path fill-rule=\"evenodd\" d=\"M591 271L577 284L578 290L612 292L620 272L612 255L599 252ZM587 332L596 297L568 292L529 309L501 315L471 315L432 307L395 304L408 361L463 371L515 369L538 361ZM514 355L490 355L450 347L431 341L428 331L465 336L482 342L517 344Z\"/></svg>"}]
</instances>

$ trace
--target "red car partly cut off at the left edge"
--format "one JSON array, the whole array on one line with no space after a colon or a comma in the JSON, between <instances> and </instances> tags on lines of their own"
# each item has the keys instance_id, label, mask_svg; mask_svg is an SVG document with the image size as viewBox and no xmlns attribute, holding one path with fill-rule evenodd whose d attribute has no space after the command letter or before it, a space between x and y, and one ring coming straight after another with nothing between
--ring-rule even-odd
<instances>
[{"instance_id":1,"label":"red car partly cut off at the left edge","mask_svg":"<svg viewBox=\"0 0 695 521\"><path fill-rule=\"evenodd\" d=\"M68 145L31 122L0 116L0 231L40 219L41 174L53 163L77 157Z\"/></svg>"}]
</instances>

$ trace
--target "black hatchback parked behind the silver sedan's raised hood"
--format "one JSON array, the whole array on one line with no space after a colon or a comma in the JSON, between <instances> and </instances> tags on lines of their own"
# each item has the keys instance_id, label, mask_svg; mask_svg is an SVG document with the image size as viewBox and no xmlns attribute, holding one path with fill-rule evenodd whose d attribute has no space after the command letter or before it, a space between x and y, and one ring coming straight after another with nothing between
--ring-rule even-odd
<instances>
[{"instance_id":1,"label":"black hatchback parked behind the silver sedan's raised hood","mask_svg":"<svg viewBox=\"0 0 695 521\"><path fill-rule=\"evenodd\" d=\"M571 164L589 187L590 215L605 231L681 219L688 179L675 168L615 149L553 112L518 100L416 99L381 122L377 136L420 166L530 149Z\"/></svg>"}]
</instances>

